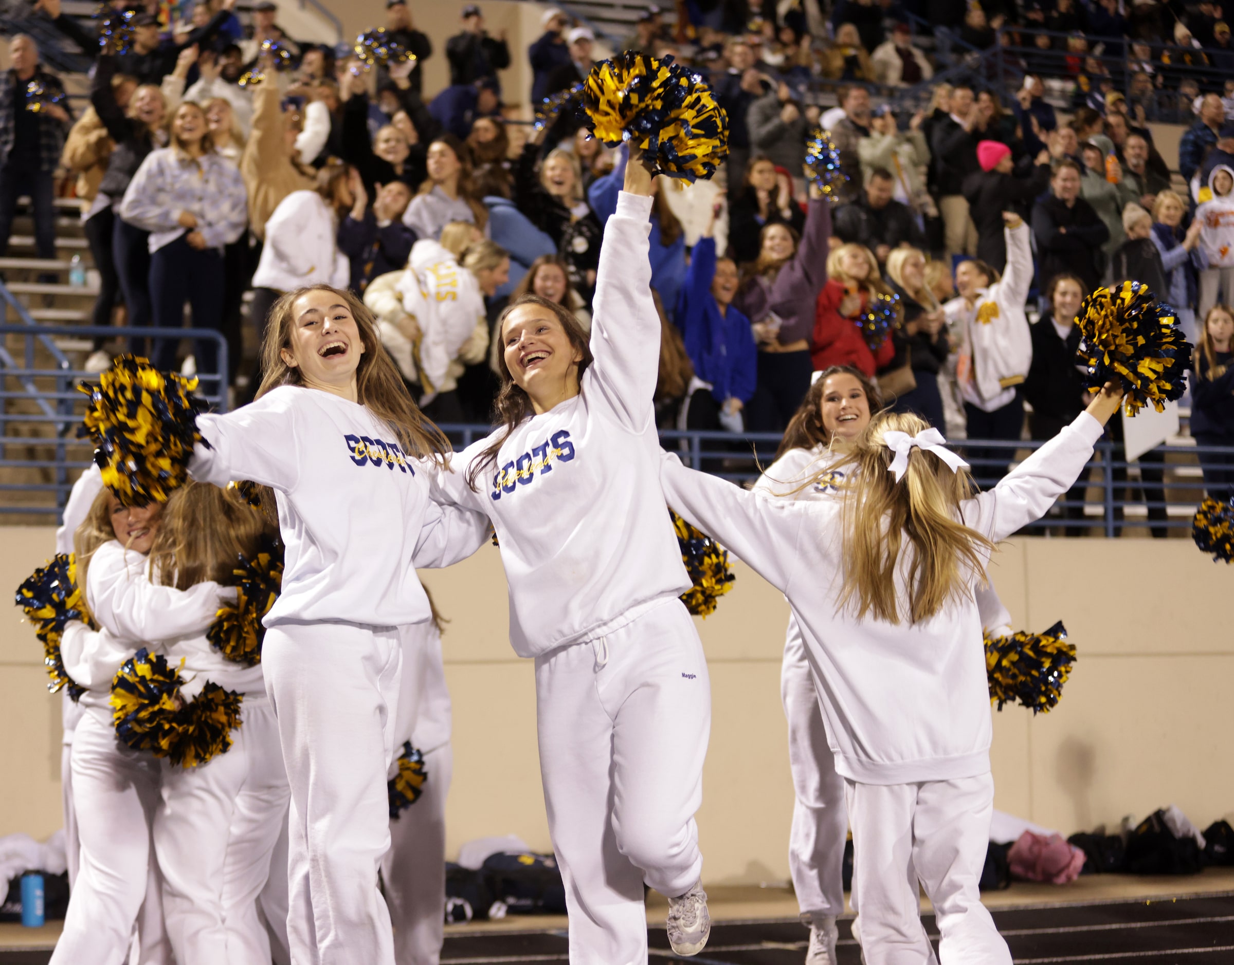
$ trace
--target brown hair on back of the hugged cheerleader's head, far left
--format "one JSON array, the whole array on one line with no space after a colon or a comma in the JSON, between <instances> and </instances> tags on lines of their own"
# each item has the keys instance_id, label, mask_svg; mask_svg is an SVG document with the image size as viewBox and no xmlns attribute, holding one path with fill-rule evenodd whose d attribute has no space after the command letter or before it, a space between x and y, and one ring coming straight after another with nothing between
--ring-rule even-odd
<instances>
[{"instance_id":1,"label":"brown hair on back of the hugged cheerleader's head, far left","mask_svg":"<svg viewBox=\"0 0 1234 965\"><path fill-rule=\"evenodd\" d=\"M253 559L263 536L275 536L259 510L210 483L190 481L172 494L151 547L151 574L164 586L233 582L239 558Z\"/></svg>"}]
</instances>

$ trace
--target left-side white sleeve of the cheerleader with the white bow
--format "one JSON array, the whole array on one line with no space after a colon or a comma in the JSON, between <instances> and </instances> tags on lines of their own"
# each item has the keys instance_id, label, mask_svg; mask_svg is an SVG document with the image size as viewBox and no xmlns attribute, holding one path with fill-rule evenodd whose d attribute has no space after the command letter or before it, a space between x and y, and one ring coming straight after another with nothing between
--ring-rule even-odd
<instances>
[{"instance_id":1,"label":"left-side white sleeve of the cheerleader with the white bow","mask_svg":"<svg viewBox=\"0 0 1234 965\"><path fill-rule=\"evenodd\" d=\"M686 469L665 453L660 485L669 506L784 592L798 569L797 540L806 515L833 512L828 502L798 502L749 492L717 476ZM835 501L838 505L838 501Z\"/></svg>"}]
</instances>

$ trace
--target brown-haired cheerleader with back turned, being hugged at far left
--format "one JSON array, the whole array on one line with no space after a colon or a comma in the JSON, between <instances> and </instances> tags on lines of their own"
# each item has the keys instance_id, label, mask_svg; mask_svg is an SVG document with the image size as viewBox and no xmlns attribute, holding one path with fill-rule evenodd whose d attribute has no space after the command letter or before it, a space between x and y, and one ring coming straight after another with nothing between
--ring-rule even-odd
<instances>
[{"instance_id":1,"label":"brown-haired cheerleader with back turned, being hugged at far left","mask_svg":"<svg viewBox=\"0 0 1234 965\"><path fill-rule=\"evenodd\" d=\"M255 559L270 529L238 497L190 483L168 500L149 571L180 590L209 579L230 582L236 561ZM144 574L133 580L148 581ZM175 960L265 965L270 940L257 914L257 897L270 871L290 790L262 665L228 659L206 639L205 628L165 640L160 649L188 681L181 698L191 700L207 681L242 698L242 726L223 753L194 768L162 761L154 851Z\"/></svg>"}]
</instances>

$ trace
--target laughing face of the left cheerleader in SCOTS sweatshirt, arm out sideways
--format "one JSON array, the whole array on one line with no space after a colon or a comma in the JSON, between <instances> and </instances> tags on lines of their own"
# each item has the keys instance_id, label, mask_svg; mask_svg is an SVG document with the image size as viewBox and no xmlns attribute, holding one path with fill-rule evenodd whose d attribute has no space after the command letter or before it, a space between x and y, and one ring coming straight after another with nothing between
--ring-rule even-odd
<instances>
[{"instance_id":1,"label":"laughing face of the left cheerleader in SCOTS sweatshirt, arm out sideways","mask_svg":"<svg viewBox=\"0 0 1234 965\"><path fill-rule=\"evenodd\" d=\"M305 385L338 394L354 386L364 342L346 300L328 289L312 289L291 302L290 331L279 354L285 365L300 370Z\"/></svg>"}]
</instances>

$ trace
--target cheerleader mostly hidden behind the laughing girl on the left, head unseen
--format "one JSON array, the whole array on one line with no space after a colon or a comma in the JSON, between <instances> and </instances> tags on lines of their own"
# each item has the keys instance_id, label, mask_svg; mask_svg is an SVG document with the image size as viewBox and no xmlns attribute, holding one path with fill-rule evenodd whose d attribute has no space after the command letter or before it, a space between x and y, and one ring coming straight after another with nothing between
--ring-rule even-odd
<instances>
[{"instance_id":1,"label":"cheerleader mostly hidden behind the laughing girl on the left, head unseen","mask_svg":"<svg viewBox=\"0 0 1234 965\"><path fill-rule=\"evenodd\" d=\"M427 595L427 590L426 590ZM454 771L450 748L450 695L442 665L442 618L429 596L433 618L400 628L404 676L395 726L396 747L407 742L423 758L420 797L390 816L390 850L381 860L394 954L399 965L438 965L445 938L445 795ZM406 673L420 666L416 674ZM418 692L412 691L420 684ZM411 692L410 692L411 691ZM399 752L401 754L401 750ZM390 768L392 779L399 761Z\"/></svg>"}]
</instances>

